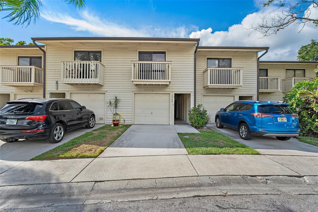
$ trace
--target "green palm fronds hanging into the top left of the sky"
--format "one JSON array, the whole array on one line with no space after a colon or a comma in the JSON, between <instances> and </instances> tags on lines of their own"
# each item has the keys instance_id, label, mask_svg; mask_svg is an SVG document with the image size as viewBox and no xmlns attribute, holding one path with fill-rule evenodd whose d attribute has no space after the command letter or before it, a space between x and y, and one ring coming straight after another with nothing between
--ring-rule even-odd
<instances>
[{"instance_id":1,"label":"green palm fronds hanging into the top left of the sky","mask_svg":"<svg viewBox=\"0 0 318 212\"><path fill-rule=\"evenodd\" d=\"M67 4L73 4L75 8L81 9L84 7L85 0L63 0ZM40 15L40 7L42 3L40 0L0 0L0 11L8 11L4 16L8 18L9 22L14 25L30 25L38 20Z\"/></svg>"}]
</instances>

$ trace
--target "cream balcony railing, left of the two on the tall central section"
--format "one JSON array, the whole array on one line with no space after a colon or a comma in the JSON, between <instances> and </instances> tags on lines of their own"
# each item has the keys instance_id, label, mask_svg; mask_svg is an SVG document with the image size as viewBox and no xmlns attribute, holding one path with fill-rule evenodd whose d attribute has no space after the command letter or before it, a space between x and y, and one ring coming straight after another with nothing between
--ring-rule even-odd
<instances>
[{"instance_id":1,"label":"cream balcony railing, left of the two on the tall central section","mask_svg":"<svg viewBox=\"0 0 318 212\"><path fill-rule=\"evenodd\" d=\"M104 85L104 65L100 61L61 61L62 82Z\"/></svg>"}]
</instances>

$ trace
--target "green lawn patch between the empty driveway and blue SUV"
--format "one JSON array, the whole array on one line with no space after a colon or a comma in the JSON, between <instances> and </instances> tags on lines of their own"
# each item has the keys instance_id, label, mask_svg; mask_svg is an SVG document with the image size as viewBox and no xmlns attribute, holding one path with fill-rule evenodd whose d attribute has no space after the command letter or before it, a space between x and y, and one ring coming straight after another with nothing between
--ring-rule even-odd
<instances>
[{"instance_id":1,"label":"green lawn patch between the empty driveway and blue SUV","mask_svg":"<svg viewBox=\"0 0 318 212\"><path fill-rule=\"evenodd\" d=\"M178 135L190 155L260 154L251 147L213 130L202 130L200 133L178 133Z\"/></svg>"}]
</instances>

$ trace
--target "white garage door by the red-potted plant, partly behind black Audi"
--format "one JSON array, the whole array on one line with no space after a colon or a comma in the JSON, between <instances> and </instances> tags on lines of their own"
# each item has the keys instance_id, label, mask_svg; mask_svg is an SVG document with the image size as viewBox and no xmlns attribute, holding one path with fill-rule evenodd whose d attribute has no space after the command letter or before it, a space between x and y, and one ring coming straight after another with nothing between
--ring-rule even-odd
<instances>
[{"instance_id":1,"label":"white garage door by the red-potted plant, partly behind black Audi","mask_svg":"<svg viewBox=\"0 0 318 212\"><path fill-rule=\"evenodd\" d=\"M96 124L105 124L105 93L70 93L70 99L93 110Z\"/></svg>"}]
</instances>

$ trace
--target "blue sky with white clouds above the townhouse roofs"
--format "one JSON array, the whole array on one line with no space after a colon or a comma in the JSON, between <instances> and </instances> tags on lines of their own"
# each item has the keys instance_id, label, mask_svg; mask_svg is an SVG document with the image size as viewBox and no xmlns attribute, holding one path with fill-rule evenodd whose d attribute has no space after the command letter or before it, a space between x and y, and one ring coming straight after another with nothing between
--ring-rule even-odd
<instances>
[{"instance_id":1,"label":"blue sky with white clouds above the townhouse roofs","mask_svg":"<svg viewBox=\"0 0 318 212\"><path fill-rule=\"evenodd\" d=\"M93 1L75 9L62 0L42 0L41 17L27 27L0 20L0 37L119 36L201 38L204 46L269 46L264 59L295 60L301 45L318 39L318 28L294 25L262 38L247 30L259 17L282 8L262 8L260 1ZM312 12L318 16L318 9ZM1 18L4 16L1 13ZM3 30L5 29L5 30ZM288 39L286 39L288 38Z\"/></svg>"}]
</instances>

